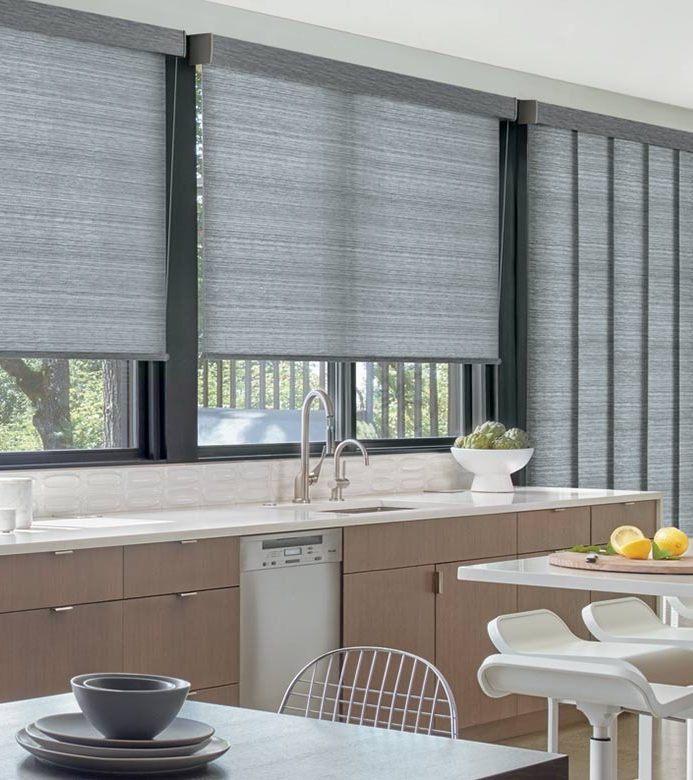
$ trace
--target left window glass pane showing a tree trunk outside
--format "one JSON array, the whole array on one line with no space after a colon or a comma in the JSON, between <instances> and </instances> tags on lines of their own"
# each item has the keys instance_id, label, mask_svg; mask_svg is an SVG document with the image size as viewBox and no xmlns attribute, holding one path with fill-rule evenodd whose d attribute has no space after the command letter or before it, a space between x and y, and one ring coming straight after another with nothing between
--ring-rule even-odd
<instances>
[{"instance_id":1,"label":"left window glass pane showing a tree trunk outside","mask_svg":"<svg viewBox=\"0 0 693 780\"><path fill-rule=\"evenodd\" d=\"M135 447L133 366L0 358L0 451Z\"/></svg>"}]
</instances>

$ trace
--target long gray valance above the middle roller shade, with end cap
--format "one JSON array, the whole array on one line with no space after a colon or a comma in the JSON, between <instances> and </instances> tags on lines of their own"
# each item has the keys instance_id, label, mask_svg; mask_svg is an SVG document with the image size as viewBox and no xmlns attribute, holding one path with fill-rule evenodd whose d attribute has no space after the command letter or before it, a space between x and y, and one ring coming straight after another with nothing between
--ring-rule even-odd
<instances>
[{"instance_id":1,"label":"long gray valance above the middle roller shade, with end cap","mask_svg":"<svg viewBox=\"0 0 693 780\"><path fill-rule=\"evenodd\" d=\"M189 56L191 65L212 64L348 94L388 97L499 119L514 120L517 116L514 97L209 33L189 36Z\"/></svg>"}]
</instances>

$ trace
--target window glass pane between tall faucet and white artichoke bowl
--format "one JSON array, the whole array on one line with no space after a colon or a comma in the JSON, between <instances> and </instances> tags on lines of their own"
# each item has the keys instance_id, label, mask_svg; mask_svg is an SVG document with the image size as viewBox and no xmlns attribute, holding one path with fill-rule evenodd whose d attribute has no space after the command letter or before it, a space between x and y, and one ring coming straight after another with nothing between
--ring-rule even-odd
<instances>
[{"instance_id":1,"label":"window glass pane between tall faucet and white artichoke bowl","mask_svg":"<svg viewBox=\"0 0 693 780\"><path fill-rule=\"evenodd\" d=\"M356 436L457 436L461 370L447 363L357 363Z\"/></svg>"}]
</instances>

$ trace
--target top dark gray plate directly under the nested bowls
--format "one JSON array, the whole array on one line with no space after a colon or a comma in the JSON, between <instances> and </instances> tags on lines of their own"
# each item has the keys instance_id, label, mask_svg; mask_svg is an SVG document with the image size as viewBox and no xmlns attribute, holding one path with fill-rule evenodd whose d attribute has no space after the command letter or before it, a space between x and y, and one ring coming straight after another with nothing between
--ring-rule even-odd
<instances>
[{"instance_id":1,"label":"top dark gray plate directly under the nested bowls","mask_svg":"<svg viewBox=\"0 0 693 780\"><path fill-rule=\"evenodd\" d=\"M107 739L97 731L81 712L49 715L39 718L34 726L60 742L95 747L160 748L196 745L214 735L214 729L206 723L189 718L176 718L154 739Z\"/></svg>"}]
</instances>

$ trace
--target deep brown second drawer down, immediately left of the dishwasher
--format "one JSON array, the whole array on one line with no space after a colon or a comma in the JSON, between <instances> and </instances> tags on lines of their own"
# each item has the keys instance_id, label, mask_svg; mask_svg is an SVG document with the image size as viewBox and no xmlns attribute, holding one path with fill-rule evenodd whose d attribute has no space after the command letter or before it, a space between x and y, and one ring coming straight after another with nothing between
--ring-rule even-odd
<instances>
[{"instance_id":1,"label":"deep brown second drawer down, immediately left of the dishwasher","mask_svg":"<svg viewBox=\"0 0 693 780\"><path fill-rule=\"evenodd\" d=\"M238 588L124 602L128 672L168 674L193 690L238 682Z\"/></svg>"}]
</instances>

